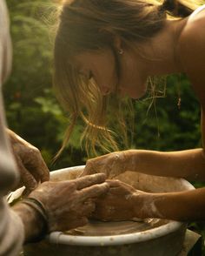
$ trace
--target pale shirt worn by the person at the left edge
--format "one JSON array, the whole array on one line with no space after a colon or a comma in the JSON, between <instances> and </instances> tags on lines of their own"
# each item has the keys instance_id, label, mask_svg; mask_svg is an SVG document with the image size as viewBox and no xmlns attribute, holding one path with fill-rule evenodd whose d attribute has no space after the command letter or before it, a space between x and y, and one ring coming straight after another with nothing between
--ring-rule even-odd
<instances>
[{"instance_id":1,"label":"pale shirt worn by the person at the left edge","mask_svg":"<svg viewBox=\"0 0 205 256\"><path fill-rule=\"evenodd\" d=\"M11 62L9 18L6 4L0 0L0 256L18 256L24 240L23 222L3 199L17 179L17 165L5 135L1 87L8 76Z\"/></svg>"}]
</instances>

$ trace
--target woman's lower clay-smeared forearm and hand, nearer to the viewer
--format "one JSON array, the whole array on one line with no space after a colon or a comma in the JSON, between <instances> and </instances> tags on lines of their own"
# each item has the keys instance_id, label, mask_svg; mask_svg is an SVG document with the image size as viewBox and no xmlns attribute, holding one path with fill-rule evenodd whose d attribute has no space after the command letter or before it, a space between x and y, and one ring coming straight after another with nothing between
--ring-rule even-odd
<instances>
[{"instance_id":1,"label":"woman's lower clay-smeared forearm and hand, nearer to the viewer","mask_svg":"<svg viewBox=\"0 0 205 256\"><path fill-rule=\"evenodd\" d=\"M110 180L109 192L96 202L93 217L104 220L134 218L205 220L205 188L185 192L136 191L121 181Z\"/></svg>"}]
</instances>

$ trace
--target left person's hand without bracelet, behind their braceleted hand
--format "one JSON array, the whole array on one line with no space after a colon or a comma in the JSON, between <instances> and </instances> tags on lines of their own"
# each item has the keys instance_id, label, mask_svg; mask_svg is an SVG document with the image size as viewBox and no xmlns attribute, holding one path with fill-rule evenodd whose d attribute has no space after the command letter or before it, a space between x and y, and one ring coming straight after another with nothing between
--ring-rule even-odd
<instances>
[{"instance_id":1,"label":"left person's hand without bracelet, behind their braceleted hand","mask_svg":"<svg viewBox=\"0 0 205 256\"><path fill-rule=\"evenodd\" d=\"M7 129L7 133L17 162L18 171L20 172L20 180L17 187L25 185L27 193L31 192L39 182L50 179L50 171L43 161L41 153L35 146L30 145L30 143L9 129Z\"/></svg>"}]
</instances>

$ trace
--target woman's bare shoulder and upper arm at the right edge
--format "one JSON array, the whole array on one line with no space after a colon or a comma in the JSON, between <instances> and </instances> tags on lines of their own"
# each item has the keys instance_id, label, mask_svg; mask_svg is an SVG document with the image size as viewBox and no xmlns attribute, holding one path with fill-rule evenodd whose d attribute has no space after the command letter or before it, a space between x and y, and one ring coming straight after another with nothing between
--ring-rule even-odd
<instances>
[{"instance_id":1,"label":"woman's bare shoulder and upper arm at the right edge","mask_svg":"<svg viewBox=\"0 0 205 256\"><path fill-rule=\"evenodd\" d=\"M183 70L205 109L205 9L188 17L178 49Z\"/></svg>"}]
</instances>

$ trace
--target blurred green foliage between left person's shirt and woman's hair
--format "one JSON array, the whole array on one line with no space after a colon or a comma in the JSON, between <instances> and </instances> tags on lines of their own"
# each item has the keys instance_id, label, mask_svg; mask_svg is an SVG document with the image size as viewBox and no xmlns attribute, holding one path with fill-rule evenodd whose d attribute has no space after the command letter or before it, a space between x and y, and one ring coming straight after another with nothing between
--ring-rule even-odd
<instances>
[{"instance_id":1,"label":"blurred green foliage between left person's shirt and woman's hair","mask_svg":"<svg viewBox=\"0 0 205 256\"><path fill-rule=\"evenodd\" d=\"M36 145L50 169L82 165L82 125L76 126L68 149L53 164L69 124L52 91L52 1L7 1L13 41L13 69L3 88L10 128ZM48 14L46 16L46 14Z\"/></svg>"}]
</instances>

